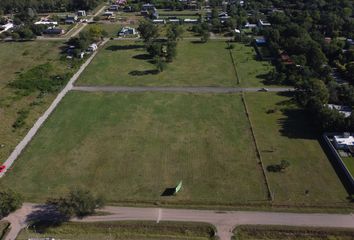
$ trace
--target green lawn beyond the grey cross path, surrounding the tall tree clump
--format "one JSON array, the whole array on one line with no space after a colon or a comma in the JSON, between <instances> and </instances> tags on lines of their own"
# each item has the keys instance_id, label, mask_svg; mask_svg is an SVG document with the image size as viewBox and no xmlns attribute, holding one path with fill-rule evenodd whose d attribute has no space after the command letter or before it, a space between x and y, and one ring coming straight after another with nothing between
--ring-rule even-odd
<instances>
[{"instance_id":1,"label":"green lawn beyond the grey cross path, surrounding the tall tree clump","mask_svg":"<svg viewBox=\"0 0 354 240\"><path fill-rule=\"evenodd\" d=\"M83 72L78 85L234 86L235 70L224 41L179 41L166 70L156 66L142 42L111 41Z\"/></svg>"}]
</instances>

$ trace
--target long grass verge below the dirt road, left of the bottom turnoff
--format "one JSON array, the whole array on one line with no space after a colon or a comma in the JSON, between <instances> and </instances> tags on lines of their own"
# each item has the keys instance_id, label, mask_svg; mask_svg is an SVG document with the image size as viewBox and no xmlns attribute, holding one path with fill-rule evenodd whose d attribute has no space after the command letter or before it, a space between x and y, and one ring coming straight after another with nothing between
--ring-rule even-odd
<instances>
[{"instance_id":1,"label":"long grass verge below the dirt road, left of the bottom turnoff","mask_svg":"<svg viewBox=\"0 0 354 240\"><path fill-rule=\"evenodd\" d=\"M101 240L101 239L213 239L214 227L204 223L176 222L97 222L64 223L59 227L43 227L36 224L22 230L17 240L52 237L55 239Z\"/></svg>"}]
</instances>

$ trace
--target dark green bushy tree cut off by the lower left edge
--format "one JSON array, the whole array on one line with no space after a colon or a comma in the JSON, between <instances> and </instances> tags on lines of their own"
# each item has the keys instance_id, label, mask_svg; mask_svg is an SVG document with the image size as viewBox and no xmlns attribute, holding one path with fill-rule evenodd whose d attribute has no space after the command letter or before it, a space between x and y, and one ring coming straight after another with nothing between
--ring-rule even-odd
<instances>
[{"instance_id":1,"label":"dark green bushy tree cut off by the lower left edge","mask_svg":"<svg viewBox=\"0 0 354 240\"><path fill-rule=\"evenodd\" d=\"M0 190L0 219L22 206L22 198L13 190Z\"/></svg>"}]
</instances>

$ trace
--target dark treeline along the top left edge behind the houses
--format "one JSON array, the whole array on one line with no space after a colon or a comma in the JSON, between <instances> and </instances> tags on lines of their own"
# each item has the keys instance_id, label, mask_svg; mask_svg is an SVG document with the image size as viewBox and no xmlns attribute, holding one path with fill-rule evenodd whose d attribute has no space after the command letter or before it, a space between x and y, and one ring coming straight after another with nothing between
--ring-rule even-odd
<instances>
[{"instance_id":1,"label":"dark treeline along the top left edge behind the houses","mask_svg":"<svg viewBox=\"0 0 354 240\"><path fill-rule=\"evenodd\" d=\"M3 13L22 12L31 8L37 12L65 12L94 9L102 0L1 0Z\"/></svg>"}]
</instances>

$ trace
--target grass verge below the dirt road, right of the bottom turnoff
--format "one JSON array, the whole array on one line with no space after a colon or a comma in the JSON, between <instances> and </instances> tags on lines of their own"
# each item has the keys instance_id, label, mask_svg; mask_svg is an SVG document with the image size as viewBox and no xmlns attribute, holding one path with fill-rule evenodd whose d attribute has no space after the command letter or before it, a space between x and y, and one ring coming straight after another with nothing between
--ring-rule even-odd
<instances>
[{"instance_id":1,"label":"grass verge below the dirt road, right of the bottom turnoff","mask_svg":"<svg viewBox=\"0 0 354 240\"><path fill-rule=\"evenodd\" d=\"M353 230L284 226L240 226L235 240L352 240Z\"/></svg>"}]
</instances>

